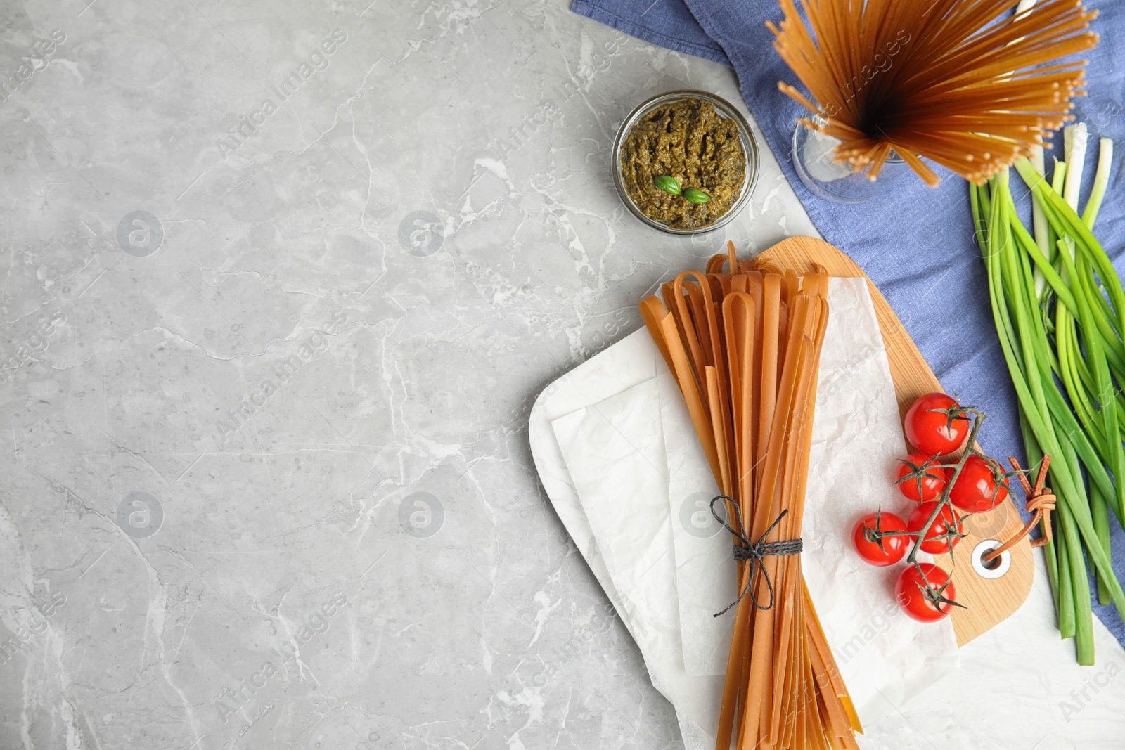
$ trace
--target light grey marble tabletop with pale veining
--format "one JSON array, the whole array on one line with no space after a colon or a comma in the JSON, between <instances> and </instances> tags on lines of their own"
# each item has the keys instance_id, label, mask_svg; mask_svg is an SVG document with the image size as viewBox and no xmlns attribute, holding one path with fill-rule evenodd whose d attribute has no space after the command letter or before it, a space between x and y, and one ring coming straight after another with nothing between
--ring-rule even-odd
<instances>
[{"instance_id":1,"label":"light grey marble tabletop with pale veining","mask_svg":"<svg viewBox=\"0 0 1125 750\"><path fill-rule=\"evenodd\" d=\"M624 115L734 73L565 0L2 21L0 750L682 747L526 421L814 234L764 145L712 235L621 206Z\"/></svg>"}]
</instances>

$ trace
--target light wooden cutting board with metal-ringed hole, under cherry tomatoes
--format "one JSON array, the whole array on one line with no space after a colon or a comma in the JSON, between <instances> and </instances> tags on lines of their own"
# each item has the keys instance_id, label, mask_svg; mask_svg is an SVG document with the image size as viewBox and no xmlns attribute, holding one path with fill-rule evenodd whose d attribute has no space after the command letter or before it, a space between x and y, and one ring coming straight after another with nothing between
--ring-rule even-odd
<instances>
[{"instance_id":1,"label":"light wooden cutting board with metal-ringed hole, under cherry tomatoes","mask_svg":"<svg viewBox=\"0 0 1125 750\"><path fill-rule=\"evenodd\" d=\"M763 252L760 257L773 259L782 268L793 269L799 273L811 272L812 264L819 263L828 269L830 275L867 278L863 269L844 252L816 237L790 237ZM891 364L891 377L899 398L899 414L906 415L916 398L944 389L871 279L867 279L867 288L883 332L886 359ZM902 444L906 455L909 452L906 437L902 439ZM954 607L950 614L957 645L964 645L1006 620L1024 604L1032 590L1035 562L1027 537L1009 551L1010 568L999 578L984 578L970 563L970 554L980 542L989 539L1006 541L1023 528L1024 522L1012 504L1012 497L1014 495L1009 495L1006 501L987 514L972 516L971 523L965 526L969 535L961 540L954 551L957 602L965 606ZM936 558L935 562L947 571L953 569L953 562L947 555Z\"/></svg>"}]
</instances>

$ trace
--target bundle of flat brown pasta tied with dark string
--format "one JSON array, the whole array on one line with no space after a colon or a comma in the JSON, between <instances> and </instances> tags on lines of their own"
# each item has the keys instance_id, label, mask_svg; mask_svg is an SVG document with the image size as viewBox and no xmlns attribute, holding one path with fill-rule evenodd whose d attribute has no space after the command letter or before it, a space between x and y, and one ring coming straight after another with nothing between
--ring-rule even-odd
<instances>
[{"instance_id":1,"label":"bundle of flat brown pasta tied with dark string","mask_svg":"<svg viewBox=\"0 0 1125 750\"><path fill-rule=\"evenodd\" d=\"M736 545L798 540L828 274L755 268L728 249L705 273L664 284L664 302L642 300L641 316L680 383L727 517L745 523ZM732 737L746 750L858 748L860 721L800 555L735 557L746 596L735 614L716 748L727 750Z\"/></svg>"}]
</instances>

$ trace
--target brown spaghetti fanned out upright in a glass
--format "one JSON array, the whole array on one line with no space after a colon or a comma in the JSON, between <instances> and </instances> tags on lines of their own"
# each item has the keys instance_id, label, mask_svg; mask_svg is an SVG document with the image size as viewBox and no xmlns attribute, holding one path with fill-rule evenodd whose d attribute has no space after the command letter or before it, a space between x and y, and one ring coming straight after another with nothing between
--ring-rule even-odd
<instances>
[{"instance_id":1,"label":"brown spaghetti fanned out upright in a glass","mask_svg":"<svg viewBox=\"0 0 1125 750\"><path fill-rule=\"evenodd\" d=\"M807 127L838 138L837 161L874 179L893 151L928 184L921 157L976 184L1044 145L1073 119L1097 12L1081 0L1043 0L1001 16L1017 0L793 0L774 47L809 90L782 91L817 117ZM1046 64L1051 63L1051 64Z\"/></svg>"}]
</instances>

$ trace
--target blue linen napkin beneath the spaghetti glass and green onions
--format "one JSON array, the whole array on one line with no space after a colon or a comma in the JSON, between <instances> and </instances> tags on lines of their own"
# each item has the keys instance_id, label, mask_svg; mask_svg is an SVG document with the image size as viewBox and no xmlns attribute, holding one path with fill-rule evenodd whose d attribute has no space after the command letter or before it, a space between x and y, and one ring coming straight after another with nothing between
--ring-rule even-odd
<instances>
[{"instance_id":1,"label":"blue linen napkin beneath the spaghetti glass and green onions","mask_svg":"<svg viewBox=\"0 0 1125 750\"><path fill-rule=\"evenodd\" d=\"M1100 11L1094 28L1101 42L1089 55L1089 96L1079 98L1074 110L1078 120L1090 128L1082 200L1094 181L1097 138L1114 138L1117 156L1095 234L1120 274L1125 266L1125 201L1118 192L1125 160L1125 43L1120 42L1125 3L1088 0L1087 6ZM806 110L777 90L778 81L803 87L773 51L773 34L765 22L781 22L775 2L574 0L572 10L652 44L734 67L747 107L825 240L871 277L944 388L962 404L988 414L980 440L983 450L1001 460L1015 455L1027 466L965 181L937 168L943 181L936 189L911 175L901 189L858 206L829 204L813 196L796 178L790 157L794 123ZM1054 150L1047 152L1048 162L1052 153L1063 157L1061 133ZM1029 205L1015 171L1011 187L1017 205ZM1025 224L1030 225L1027 216ZM1125 580L1125 533L1116 523L1110 525L1114 569ZM1096 590L1092 579L1090 588ZM1125 647L1125 624L1113 605L1100 606L1095 597L1094 608Z\"/></svg>"}]
</instances>

